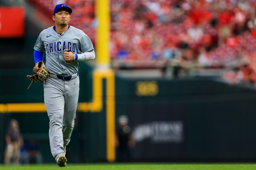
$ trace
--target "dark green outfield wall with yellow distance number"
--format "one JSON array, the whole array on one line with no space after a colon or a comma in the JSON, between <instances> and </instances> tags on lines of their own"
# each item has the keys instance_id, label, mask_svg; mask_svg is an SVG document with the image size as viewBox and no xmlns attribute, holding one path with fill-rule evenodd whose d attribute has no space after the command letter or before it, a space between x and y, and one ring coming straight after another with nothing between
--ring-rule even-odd
<instances>
[{"instance_id":1,"label":"dark green outfield wall with yellow distance number","mask_svg":"<svg viewBox=\"0 0 256 170\"><path fill-rule=\"evenodd\" d=\"M1 70L0 103L43 102L43 84L29 90L30 70ZM80 65L79 102L92 102L92 68ZM18 75L17 75L18 74ZM17 79L19 84L13 82ZM77 112L69 162L107 160L106 83L102 79L102 109ZM133 161L253 161L256 159L256 91L212 78L140 79L115 77L115 113L129 117L136 141ZM45 163L53 163L46 112L0 114L0 161L10 119L20 123L25 142L34 138ZM116 123L116 127L118 124ZM114 142L114 141L113 141Z\"/></svg>"}]
</instances>

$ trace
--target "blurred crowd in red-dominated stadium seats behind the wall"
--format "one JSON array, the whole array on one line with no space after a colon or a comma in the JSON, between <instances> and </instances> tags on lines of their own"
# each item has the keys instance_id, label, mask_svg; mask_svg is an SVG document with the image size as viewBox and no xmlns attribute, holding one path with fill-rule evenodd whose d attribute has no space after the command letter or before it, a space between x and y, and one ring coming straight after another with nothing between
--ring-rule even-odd
<instances>
[{"instance_id":1,"label":"blurred crowd in red-dominated stadium seats behind the wall","mask_svg":"<svg viewBox=\"0 0 256 170\"><path fill-rule=\"evenodd\" d=\"M94 0L49 1L51 12L68 3L70 24L94 43ZM256 0L111 0L110 9L114 67L229 68L226 80L254 85Z\"/></svg>"}]
</instances>

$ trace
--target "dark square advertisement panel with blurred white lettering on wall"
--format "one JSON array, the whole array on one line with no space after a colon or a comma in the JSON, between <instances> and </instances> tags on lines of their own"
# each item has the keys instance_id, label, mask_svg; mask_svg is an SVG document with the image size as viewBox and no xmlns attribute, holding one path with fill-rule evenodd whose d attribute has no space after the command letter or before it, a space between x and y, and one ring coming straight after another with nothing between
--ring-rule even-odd
<instances>
[{"instance_id":1,"label":"dark square advertisement panel with blurred white lettering on wall","mask_svg":"<svg viewBox=\"0 0 256 170\"><path fill-rule=\"evenodd\" d=\"M169 160L184 157L184 107L140 104L129 108L129 124L136 143L131 150L134 160Z\"/></svg>"}]
</instances>

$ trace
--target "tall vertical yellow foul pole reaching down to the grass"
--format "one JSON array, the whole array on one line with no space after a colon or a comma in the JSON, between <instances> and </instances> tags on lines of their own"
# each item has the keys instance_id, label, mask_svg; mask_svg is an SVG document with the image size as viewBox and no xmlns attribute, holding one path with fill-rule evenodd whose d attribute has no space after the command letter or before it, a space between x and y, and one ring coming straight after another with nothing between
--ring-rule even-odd
<instances>
[{"instance_id":1,"label":"tall vertical yellow foul pole reaching down to the grass","mask_svg":"<svg viewBox=\"0 0 256 170\"><path fill-rule=\"evenodd\" d=\"M96 29L96 67L94 78L97 75L107 78L106 101L106 133L107 133L107 160L116 159L115 151L115 74L110 69L110 0L95 0L97 29ZM95 88L95 86L93 87ZM96 89L99 90L99 89ZM95 99L97 96L95 96Z\"/></svg>"}]
</instances>

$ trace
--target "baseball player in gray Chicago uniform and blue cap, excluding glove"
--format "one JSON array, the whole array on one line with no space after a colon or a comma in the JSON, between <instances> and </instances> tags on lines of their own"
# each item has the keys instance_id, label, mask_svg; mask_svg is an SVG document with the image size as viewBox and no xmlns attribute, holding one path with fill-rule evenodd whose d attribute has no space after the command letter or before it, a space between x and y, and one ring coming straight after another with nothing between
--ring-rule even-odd
<instances>
[{"instance_id":1,"label":"baseball player in gray Chicago uniform and blue cap, excluding glove","mask_svg":"<svg viewBox=\"0 0 256 170\"><path fill-rule=\"evenodd\" d=\"M66 166L66 146L74 127L79 95L79 61L95 58L90 38L81 30L69 26L71 8L58 4L53 10L55 26L43 30L34 51L34 72L46 53L45 66L50 73L44 81L44 103L49 123L52 156L58 166Z\"/></svg>"}]
</instances>

